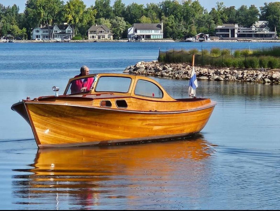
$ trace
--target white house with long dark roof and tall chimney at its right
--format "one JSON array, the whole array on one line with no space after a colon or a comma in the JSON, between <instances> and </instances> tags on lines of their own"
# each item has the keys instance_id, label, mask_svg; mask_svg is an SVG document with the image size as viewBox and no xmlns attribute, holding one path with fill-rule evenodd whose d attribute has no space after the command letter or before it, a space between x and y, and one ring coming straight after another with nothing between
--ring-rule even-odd
<instances>
[{"instance_id":1,"label":"white house with long dark roof and tall chimney at its right","mask_svg":"<svg viewBox=\"0 0 280 211\"><path fill-rule=\"evenodd\" d=\"M129 41L143 39L162 39L163 23L160 24L133 24L127 30L127 38Z\"/></svg>"}]
</instances>

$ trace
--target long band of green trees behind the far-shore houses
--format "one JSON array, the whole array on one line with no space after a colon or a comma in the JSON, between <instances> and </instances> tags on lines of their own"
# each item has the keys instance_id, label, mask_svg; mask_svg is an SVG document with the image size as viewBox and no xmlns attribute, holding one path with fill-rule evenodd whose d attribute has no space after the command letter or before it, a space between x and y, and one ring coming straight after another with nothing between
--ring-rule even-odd
<instances>
[{"instance_id":1,"label":"long band of green trees behind the far-shore houses","mask_svg":"<svg viewBox=\"0 0 280 211\"><path fill-rule=\"evenodd\" d=\"M67 22L73 28L73 36L87 39L87 30L93 24L105 24L112 29L114 38L127 37L127 29L134 23L164 24L164 38L181 39L199 32L213 35L216 25L239 24L250 27L257 20L267 20L271 30L280 27L280 2L264 3L259 9L255 5L225 7L217 2L215 8L207 11L199 1L165 0L160 3L131 3L122 0L95 0L87 7L82 0L27 0L25 10L0 4L0 35L31 38L31 31L37 25L54 26ZM49 27L50 28L50 27ZM49 34L51 30L49 30ZM51 34L50 34L50 37Z\"/></svg>"}]
</instances>

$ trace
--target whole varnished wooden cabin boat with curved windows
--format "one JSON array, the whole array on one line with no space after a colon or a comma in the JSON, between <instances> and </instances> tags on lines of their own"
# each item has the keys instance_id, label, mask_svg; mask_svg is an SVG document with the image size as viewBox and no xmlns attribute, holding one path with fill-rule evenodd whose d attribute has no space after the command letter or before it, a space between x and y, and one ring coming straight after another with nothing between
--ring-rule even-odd
<instances>
[{"instance_id":1,"label":"whole varnished wooden cabin boat with curved windows","mask_svg":"<svg viewBox=\"0 0 280 211\"><path fill-rule=\"evenodd\" d=\"M81 83L90 82L81 88ZM83 82L81 82L83 81ZM69 79L63 95L22 100L11 109L31 126L38 147L109 145L187 137L206 125L216 102L173 99L155 80L131 74Z\"/></svg>"}]
</instances>

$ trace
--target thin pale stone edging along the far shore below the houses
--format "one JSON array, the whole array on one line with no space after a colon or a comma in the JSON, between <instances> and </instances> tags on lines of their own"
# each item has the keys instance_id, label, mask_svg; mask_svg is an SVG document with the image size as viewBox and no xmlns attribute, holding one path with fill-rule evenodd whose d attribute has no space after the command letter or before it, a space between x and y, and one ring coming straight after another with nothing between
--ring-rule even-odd
<instances>
[{"instance_id":1,"label":"thin pale stone edging along the far shore below the houses","mask_svg":"<svg viewBox=\"0 0 280 211\"><path fill-rule=\"evenodd\" d=\"M124 42L128 42L127 39L120 39L120 40L71 40L70 43L115 43L115 42L120 42L120 43L124 43ZM185 42L185 41L181 41L181 40L172 40L172 39L146 39L144 41L141 41L141 43L148 43L148 42ZM227 42L235 42L235 43L242 43L242 42L246 42L246 43L280 43L280 39L278 40L262 40L262 39L255 39L255 40L211 40L211 41L207 41L207 42L202 42L202 43L227 43ZM2 43L2 42L0 42ZM4 42L3 42L4 43ZM15 40L15 43L65 43L64 41L57 41L57 40ZM68 42L67 42L68 43ZM192 42L190 42L192 43ZM195 43L199 43L199 42L195 42Z\"/></svg>"}]
</instances>

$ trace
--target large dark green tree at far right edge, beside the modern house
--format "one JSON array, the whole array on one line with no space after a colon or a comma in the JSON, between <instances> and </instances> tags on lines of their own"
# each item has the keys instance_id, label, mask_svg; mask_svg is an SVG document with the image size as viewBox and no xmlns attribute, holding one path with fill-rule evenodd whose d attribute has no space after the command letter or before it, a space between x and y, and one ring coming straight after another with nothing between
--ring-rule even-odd
<instances>
[{"instance_id":1,"label":"large dark green tree at far right edge, beside the modern house","mask_svg":"<svg viewBox=\"0 0 280 211\"><path fill-rule=\"evenodd\" d=\"M264 3L263 7L260 7L262 20L267 20L270 28L276 29L280 27L280 2Z\"/></svg>"}]
</instances>

